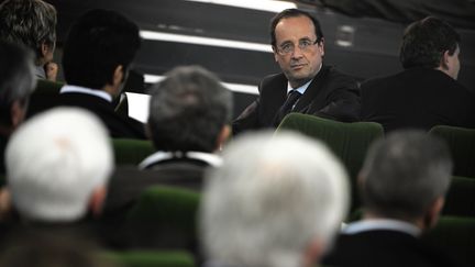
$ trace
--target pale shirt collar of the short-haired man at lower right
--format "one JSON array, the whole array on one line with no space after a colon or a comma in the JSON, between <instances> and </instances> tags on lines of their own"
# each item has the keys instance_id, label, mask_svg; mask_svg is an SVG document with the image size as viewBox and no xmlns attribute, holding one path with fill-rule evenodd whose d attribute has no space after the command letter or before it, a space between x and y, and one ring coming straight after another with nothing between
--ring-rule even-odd
<instances>
[{"instance_id":1,"label":"pale shirt collar of the short-haired man at lower right","mask_svg":"<svg viewBox=\"0 0 475 267\"><path fill-rule=\"evenodd\" d=\"M398 231L419 236L421 231L416 225L408 222L393 220L393 219L365 219L358 222L350 223L342 230L343 234L357 234L361 232L375 231L375 230L389 230Z\"/></svg>"}]
</instances>

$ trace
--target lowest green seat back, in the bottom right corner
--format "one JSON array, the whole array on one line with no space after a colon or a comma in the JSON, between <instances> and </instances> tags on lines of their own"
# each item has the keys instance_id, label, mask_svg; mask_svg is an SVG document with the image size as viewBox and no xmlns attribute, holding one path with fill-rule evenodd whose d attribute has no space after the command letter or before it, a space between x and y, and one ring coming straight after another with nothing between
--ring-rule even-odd
<instances>
[{"instance_id":1,"label":"lowest green seat back, in the bottom right corner","mask_svg":"<svg viewBox=\"0 0 475 267\"><path fill-rule=\"evenodd\" d=\"M475 218L442 216L422 241L452 254L467 266L475 266Z\"/></svg>"}]
</instances>

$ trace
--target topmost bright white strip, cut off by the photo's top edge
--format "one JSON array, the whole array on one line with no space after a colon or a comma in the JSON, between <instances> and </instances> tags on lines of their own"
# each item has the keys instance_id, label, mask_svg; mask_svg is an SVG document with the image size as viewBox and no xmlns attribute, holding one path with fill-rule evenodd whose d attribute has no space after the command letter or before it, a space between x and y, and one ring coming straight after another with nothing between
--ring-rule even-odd
<instances>
[{"instance_id":1,"label":"topmost bright white strip, cut off by the photo's top edge","mask_svg":"<svg viewBox=\"0 0 475 267\"><path fill-rule=\"evenodd\" d=\"M278 13L285 9L296 9L297 4L288 1L275 0L188 0L190 2L203 2L230 5L243 9L253 9Z\"/></svg>"}]
</instances>

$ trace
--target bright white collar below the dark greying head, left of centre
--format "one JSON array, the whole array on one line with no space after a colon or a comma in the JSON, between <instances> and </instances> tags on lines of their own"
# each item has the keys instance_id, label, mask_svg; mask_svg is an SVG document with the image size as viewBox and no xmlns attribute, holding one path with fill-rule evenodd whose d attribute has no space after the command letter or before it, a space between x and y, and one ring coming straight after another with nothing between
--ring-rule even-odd
<instances>
[{"instance_id":1,"label":"bright white collar below the dark greying head, left of centre","mask_svg":"<svg viewBox=\"0 0 475 267\"><path fill-rule=\"evenodd\" d=\"M218 167L222 164L221 157L205 152L155 152L146 157L140 165L140 169L146 169L148 166L172 158L191 158L207 163L212 167Z\"/></svg>"}]
</instances>

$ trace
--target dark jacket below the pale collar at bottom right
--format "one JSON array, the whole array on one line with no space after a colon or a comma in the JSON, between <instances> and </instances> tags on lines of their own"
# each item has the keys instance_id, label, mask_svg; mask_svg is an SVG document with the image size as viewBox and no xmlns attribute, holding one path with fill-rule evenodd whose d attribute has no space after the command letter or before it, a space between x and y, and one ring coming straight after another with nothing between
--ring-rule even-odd
<instances>
[{"instance_id":1,"label":"dark jacket below the pale collar at bottom right","mask_svg":"<svg viewBox=\"0 0 475 267\"><path fill-rule=\"evenodd\" d=\"M341 234L322 264L335 267L459 266L452 257L423 245L415 236L390 230Z\"/></svg>"}]
</instances>

